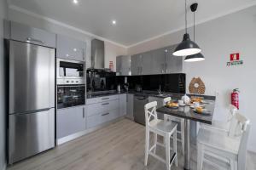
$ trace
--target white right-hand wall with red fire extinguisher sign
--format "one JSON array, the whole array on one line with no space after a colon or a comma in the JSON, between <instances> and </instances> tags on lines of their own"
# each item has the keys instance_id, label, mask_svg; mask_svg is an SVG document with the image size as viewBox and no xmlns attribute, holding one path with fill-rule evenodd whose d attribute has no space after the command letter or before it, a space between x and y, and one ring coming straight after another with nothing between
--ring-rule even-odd
<instances>
[{"instance_id":1,"label":"white right-hand wall with red fire extinguisher sign","mask_svg":"<svg viewBox=\"0 0 256 170\"><path fill-rule=\"evenodd\" d=\"M191 29L189 29L191 32ZM190 33L192 37L193 34ZM128 48L128 54L137 54L165 47L182 40L183 31L144 42ZM256 6L229 14L196 26L196 42L206 60L184 63L187 91L192 77L201 77L206 83L206 94L217 96L214 119L226 120L230 92L240 88L240 111L252 123L248 149L256 152ZM244 65L228 67L230 54L239 52Z\"/></svg>"}]
</instances>

